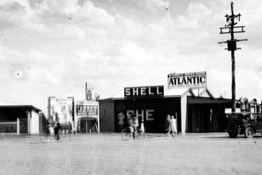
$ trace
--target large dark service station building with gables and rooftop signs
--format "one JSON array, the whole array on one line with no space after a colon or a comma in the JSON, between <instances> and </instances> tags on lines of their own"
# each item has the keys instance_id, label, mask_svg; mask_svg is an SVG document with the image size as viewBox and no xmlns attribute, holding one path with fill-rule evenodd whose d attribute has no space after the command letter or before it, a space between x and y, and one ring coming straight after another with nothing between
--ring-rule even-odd
<instances>
[{"instance_id":1,"label":"large dark service station building with gables and rooftop signs","mask_svg":"<svg viewBox=\"0 0 262 175\"><path fill-rule=\"evenodd\" d=\"M182 134L223 132L227 125L225 108L231 107L231 99L214 98L206 88L205 72L179 76L169 74L166 88L163 85L124 88L112 98L99 101L101 132L121 132L132 112L139 123L143 120L146 132L164 132L168 114L175 116L178 132ZM199 83L204 85L196 86Z\"/></svg>"}]
</instances>

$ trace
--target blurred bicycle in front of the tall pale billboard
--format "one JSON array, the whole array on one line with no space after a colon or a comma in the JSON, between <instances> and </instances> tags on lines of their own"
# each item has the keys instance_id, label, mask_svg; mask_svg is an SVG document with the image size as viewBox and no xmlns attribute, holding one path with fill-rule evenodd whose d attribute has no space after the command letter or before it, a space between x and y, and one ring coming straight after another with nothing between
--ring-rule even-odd
<instances>
[{"instance_id":1,"label":"blurred bicycle in front of the tall pale billboard","mask_svg":"<svg viewBox=\"0 0 262 175\"><path fill-rule=\"evenodd\" d=\"M53 135L51 137L48 128L46 128L46 129L47 130L39 132L39 138L40 138L40 141L43 142L43 143L50 143L50 141L52 141L53 138L57 138L57 136ZM72 131L70 130L70 127L61 126L61 128L58 131L59 138L57 138L57 140L61 141L61 142L70 141L71 133L72 133Z\"/></svg>"}]
</instances>

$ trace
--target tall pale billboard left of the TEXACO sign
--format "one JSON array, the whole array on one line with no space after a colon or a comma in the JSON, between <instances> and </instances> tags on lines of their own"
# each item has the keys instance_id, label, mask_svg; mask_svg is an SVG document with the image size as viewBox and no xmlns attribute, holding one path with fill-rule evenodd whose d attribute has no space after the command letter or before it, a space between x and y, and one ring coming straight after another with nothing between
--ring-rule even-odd
<instances>
[{"instance_id":1,"label":"tall pale billboard left of the TEXACO sign","mask_svg":"<svg viewBox=\"0 0 262 175\"><path fill-rule=\"evenodd\" d=\"M61 123L68 123L74 116L74 97L48 96L48 116L57 112Z\"/></svg>"}]
</instances>

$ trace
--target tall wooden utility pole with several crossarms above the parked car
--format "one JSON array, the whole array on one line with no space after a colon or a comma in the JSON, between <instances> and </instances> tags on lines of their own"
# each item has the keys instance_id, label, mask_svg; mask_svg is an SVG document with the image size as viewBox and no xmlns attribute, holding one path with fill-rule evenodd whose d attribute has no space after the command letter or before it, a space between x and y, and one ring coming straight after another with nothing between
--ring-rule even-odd
<instances>
[{"instance_id":1,"label":"tall wooden utility pole with several crossarms above the parked car","mask_svg":"<svg viewBox=\"0 0 262 175\"><path fill-rule=\"evenodd\" d=\"M236 42L238 41L248 41L248 39L234 39L234 33L241 33L245 32L243 29L245 26L234 26L237 23L234 23L234 19L238 19L240 21L241 14L234 14L233 10L233 2L231 2L231 15L225 14L225 18L228 25L225 25L225 28L219 28L220 33L219 34L231 34L231 39L220 43L228 43L228 48L225 48L225 50L231 51L231 59L232 59L232 112L236 112L236 83L235 83L235 61L234 61L234 51L241 49L236 48ZM237 31L234 31L234 28L238 29ZM223 30L228 29L228 32L223 32ZM239 30L240 29L240 30Z\"/></svg>"}]
</instances>

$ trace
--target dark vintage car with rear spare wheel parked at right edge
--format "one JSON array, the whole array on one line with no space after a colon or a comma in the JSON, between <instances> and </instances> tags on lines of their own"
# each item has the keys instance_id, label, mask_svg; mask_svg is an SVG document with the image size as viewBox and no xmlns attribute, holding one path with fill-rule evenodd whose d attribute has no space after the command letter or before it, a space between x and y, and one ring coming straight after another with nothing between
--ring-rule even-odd
<instances>
[{"instance_id":1,"label":"dark vintage car with rear spare wheel parked at right edge","mask_svg":"<svg viewBox=\"0 0 262 175\"><path fill-rule=\"evenodd\" d=\"M232 112L226 115L227 132L231 138L236 138L240 134L245 134L246 138L252 138L254 134L262 132L262 113Z\"/></svg>"}]
</instances>

